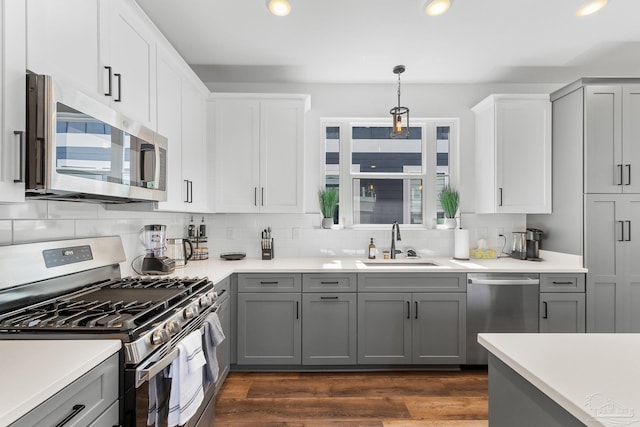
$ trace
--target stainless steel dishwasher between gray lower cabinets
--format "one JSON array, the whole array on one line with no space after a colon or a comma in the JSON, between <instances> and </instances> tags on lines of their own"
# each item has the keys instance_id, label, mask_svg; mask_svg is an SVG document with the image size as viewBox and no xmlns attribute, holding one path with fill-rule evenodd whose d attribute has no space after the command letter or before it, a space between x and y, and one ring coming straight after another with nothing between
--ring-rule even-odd
<instances>
[{"instance_id":1,"label":"stainless steel dishwasher between gray lower cabinets","mask_svg":"<svg viewBox=\"0 0 640 427\"><path fill-rule=\"evenodd\" d=\"M467 274L467 364L486 365L482 332L538 332L540 275Z\"/></svg>"}]
</instances>

